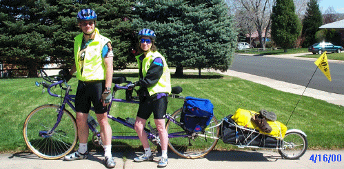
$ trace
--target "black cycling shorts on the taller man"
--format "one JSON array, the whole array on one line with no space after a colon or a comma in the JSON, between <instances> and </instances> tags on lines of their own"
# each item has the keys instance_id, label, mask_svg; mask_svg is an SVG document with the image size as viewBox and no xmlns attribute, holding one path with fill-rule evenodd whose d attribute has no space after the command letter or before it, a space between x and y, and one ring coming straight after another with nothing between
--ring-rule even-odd
<instances>
[{"instance_id":1,"label":"black cycling shorts on the taller man","mask_svg":"<svg viewBox=\"0 0 344 169\"><path fill-rule=\"evenodd\" d=\"M104 90L105 81L79 81L77 95L75 96L75 110L77 112L88 113L92 102L96 114L106 112L106 106L103 106L101 102L101 94Z\"/></svg>"}]
</instances>

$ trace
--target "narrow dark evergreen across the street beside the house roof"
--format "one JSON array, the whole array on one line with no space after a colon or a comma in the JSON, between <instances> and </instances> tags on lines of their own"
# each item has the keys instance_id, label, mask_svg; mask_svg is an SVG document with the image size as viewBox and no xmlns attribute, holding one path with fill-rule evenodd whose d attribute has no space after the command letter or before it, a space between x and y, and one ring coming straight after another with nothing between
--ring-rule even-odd
<instances>
[{"instance_id":1,"label":"narrow dark evergreen across the street beside the house roof","mask_svg":"<svg viewBox=\"0 0 344 169\"><path fill-rule=\"evenodd\" d=\"M307 3L307 10L302 24L302 34L305 39L302 46L307 48L316 43L315 34L318 28L323 25L323 17L321 16L318 0L310 0Z\"/></svg>"}]
</instances>

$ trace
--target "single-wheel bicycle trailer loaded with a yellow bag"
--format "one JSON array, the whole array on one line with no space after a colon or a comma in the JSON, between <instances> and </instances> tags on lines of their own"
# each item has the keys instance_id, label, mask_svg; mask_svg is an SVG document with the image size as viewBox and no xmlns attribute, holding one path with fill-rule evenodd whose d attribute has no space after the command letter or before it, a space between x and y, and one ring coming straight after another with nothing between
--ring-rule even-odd
<instances>
[{"instance_id":1,"label":"single-wheel bicycle trailer loaded with a yellow bag","mask_svg":"<svg viewBox=\"0 0 344 169\"><path fill-rule=\"evenodd\" d=\"M239 148L276 149L285 159L299 159L305 154L308 146L305 132L297 129L287 130L283 123L272 120L265 123L272 130L265 132L252 118L257 114L259 112L239 108L234 115L223 117L220 132L223 142Z\"/></svg>"}]
</instances>

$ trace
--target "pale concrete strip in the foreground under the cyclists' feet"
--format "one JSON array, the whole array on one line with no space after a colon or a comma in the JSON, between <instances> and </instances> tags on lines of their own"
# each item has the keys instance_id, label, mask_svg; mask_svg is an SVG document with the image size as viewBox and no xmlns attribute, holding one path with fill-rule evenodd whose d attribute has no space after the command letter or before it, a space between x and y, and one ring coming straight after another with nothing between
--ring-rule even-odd
<instances>
[{"instance_id":1,"label":"pale concrete strip in the foreground under the cyclists' feet","mask_svg":"<svg viewBox=\"0 0 344 169\"><path fill-rule=\"evenodd\" d=\"M154 161L136 163L132 159L140 155L141 152L128 152L123 158L123 152L112 152L116 161L115 168L157 168L158 158ZM137 155L136 155L137 154ZM160 154L159 154L160 155ZM316 161L311 157L317 156L321 159ZM330 162L324 160L324 157L336 157ZM297 160L282 159L276 150L212 150L208 155L199 159L184 159L175 155L172 151L168 152L168 168L344 168L344 151L343 150L307 150L305 155ZM341 157L339 159L338 157ZM77 161L64 161L63 159L48 160L41 159L36 155L28 152L18 152L14 154L0 154L0 169L94 169L106 168L103 165L103 152L90 152L88 159Z\"/></svg>"}]
</instances>

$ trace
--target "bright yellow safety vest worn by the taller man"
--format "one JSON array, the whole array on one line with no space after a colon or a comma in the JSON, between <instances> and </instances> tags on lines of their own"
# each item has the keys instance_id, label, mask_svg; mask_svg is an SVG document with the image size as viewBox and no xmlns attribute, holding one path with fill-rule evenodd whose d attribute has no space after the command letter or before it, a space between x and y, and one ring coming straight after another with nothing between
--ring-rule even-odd
<instances>
[{"instance_id":1,"label":"bright yellow safety vest worn by the taller man","mask_svg":"<svg viewBox=\"0 0 344 169\"><path fill-rule=\"evenodd\" d=\"M79 52L83 41L83 33L74 38L74 59L77 67L77 78L81 81L106 79L105 63L101 56L101 51L108 42L111 43L111 40L102 36L97 28L95 28L94 32L96 33L94 40L85 48L82 74L81 66L79 66Z\"/></svg>"}]
</instances>

